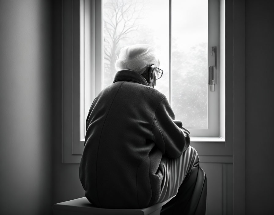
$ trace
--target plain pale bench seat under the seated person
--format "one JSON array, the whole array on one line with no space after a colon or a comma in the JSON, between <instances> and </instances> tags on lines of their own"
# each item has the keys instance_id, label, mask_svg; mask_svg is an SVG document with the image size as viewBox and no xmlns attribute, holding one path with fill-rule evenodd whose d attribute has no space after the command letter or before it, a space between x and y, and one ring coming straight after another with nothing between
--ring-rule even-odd
<instances>
[{"instance_id":1,"label":"plain pale bench seat under the seated person","mask_svg":"<svg viewBox=\"0 0 274 215\"><path fill-rule=\"evenodd\" d=\"M54 204L52 209L54 215L159 215L162 206L172 198L143 209L104 209L92 206L83 197Z\"/></svg>"}]
</instances>

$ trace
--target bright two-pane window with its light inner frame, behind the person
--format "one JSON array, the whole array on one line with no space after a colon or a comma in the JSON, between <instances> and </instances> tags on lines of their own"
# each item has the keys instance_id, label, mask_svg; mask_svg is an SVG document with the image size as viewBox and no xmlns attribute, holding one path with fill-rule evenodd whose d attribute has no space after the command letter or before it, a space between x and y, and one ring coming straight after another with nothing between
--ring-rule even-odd
<instances>
[{"instance_id":1,"label":"bright two-pane window with its light inner frame, behind the person","mask_svg":"<svg viewBox=\"0 0 274 215\"><path fill-rule=\"evenodd\" d=\"M94 20L87 15L90 3L81 1L81 53L84 56L81 59L86 59L81 64L81 137L85 136L85 118L92 100L113 81L120 48L136 43L150 44L161 51L160 67L165 72L155 88L166 95L176 118L190 130L191 136L220 137L219 1L95 1L98 19ZM94 26L86 20L92 20ZM93 31L102 34L96 38L90 35ZM97 48L93 58L87 50L92 39L93 48ZM215 64L211 46L217 46L215 92L211 92L208 85L208 67ZM95 65L94 71L90 65ZM91 76L95 80L93 89Z\"/></svg>"}]
</instances>

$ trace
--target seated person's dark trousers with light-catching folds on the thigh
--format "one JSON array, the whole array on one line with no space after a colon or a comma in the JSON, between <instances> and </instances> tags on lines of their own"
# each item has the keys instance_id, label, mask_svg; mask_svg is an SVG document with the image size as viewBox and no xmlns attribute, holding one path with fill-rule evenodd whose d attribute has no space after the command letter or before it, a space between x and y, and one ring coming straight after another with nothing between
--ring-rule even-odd
<instances>
[{"instance_id":1,"label":"seated person's dark trousers with light-catching folds on the thigh","mask_svg":"<svg viewBox=\"0 0 274 215\"><path fill-rule=\"evenodd\" d=\"M189 147L180 157L163 157L162 161L165 173L157 203L176 196L162 207L161 215L204 215L207 180L196 150Z\"/></svg>"}]
</instances>

